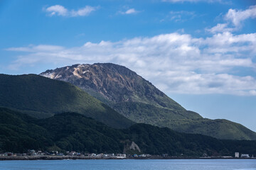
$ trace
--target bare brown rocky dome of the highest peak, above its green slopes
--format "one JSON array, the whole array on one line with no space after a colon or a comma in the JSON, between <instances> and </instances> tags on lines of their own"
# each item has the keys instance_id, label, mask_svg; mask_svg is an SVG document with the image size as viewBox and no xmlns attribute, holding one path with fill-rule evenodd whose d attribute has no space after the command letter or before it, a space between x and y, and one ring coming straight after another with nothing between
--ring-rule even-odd
<instances>
[{"instance_id":1,"label":"bare brown rocky dome of the highest peak, above its green slopes","mask_svg":"<svg viewBox=\"0 0 256 170\"><path fill-rule=\"evenodd\" d=\"M50 79L68 81L92 96L97 93L113 103L133 101L185 110L159 89L156 89L149 81L117 64L75 64L47 70L40 75ZM95 97L100 99L99 96Z\"/></svg>"}]
</instances>

